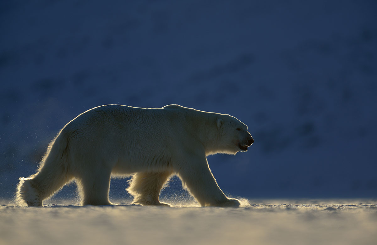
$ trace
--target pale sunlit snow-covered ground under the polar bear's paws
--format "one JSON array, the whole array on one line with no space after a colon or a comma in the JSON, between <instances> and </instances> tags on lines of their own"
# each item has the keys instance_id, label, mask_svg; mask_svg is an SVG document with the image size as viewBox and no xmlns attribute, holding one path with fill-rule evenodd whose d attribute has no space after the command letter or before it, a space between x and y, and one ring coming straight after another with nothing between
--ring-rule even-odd
<instances>
[{"instance_id":1,"label":"pale sunlit snow-covered ground under the polar bear's paws","mask_svg":"<svg viewBox=\"0 0 377 245\"><path fill-rule=\"evenodd\" d=\"M377 243L376 200L244 199L241 208L118 203L26 208L2 201L0 244Z\"/></svg>"}]
</instances>

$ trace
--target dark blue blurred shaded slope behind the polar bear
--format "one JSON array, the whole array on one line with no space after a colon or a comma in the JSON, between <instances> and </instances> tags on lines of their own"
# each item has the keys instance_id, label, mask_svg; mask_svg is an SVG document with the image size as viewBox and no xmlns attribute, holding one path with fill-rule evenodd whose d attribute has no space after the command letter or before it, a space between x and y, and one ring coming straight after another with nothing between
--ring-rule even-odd
<instances>
[{"instance_id":1,"label":"dark blue blurred shaded slope behind the polar bear","mask_svg":"<svg viewBox=\"0 0 377 245\"><path fill-rule=\"evenodd\" d=\"M0 196L79 113L175 103L248 125L247 153L208 157L226 193L377 197L376 12L375 1L2 1ZM126 195L126 180L112 184Z\"/></svg>"}]
</instances>

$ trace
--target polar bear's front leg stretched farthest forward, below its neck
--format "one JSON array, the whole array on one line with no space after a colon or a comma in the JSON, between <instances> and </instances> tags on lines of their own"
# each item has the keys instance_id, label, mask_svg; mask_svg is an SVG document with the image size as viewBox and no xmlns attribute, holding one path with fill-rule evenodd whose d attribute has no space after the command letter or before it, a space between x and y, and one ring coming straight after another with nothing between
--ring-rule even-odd
<instances>
[{"instance_id":1,"label":"polar bear's front leg stretched farthest forward, below its neck","mask_svg":"<svg viewBox=\"0 0 377 245\"><path fill-rule=\"evenodd\" d=\"M178 171L183 185L195 197L201 206L241 205L237 199L229 199L216 183L205 156L190 156L188 162Z\"/></svg>"}]
</instances>

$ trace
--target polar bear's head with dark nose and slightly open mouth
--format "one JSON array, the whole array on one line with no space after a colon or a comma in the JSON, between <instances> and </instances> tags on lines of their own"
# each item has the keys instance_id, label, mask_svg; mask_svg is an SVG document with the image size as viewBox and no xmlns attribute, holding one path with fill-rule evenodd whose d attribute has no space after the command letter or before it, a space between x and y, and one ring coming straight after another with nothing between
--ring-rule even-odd
<instances>
[{"instance_id":1,"label":"polar bear's head with dark nose and slightly open mouth","mask_svg":"<svg viewBox=\"0 0 377 245\"><path fill-rule=\"evenodd\" d=\"M235 117L219 114L216 126L218 153L236 154L239 151L247 151L248 146L254 143L247 126Z\"/></svg>"}]
</instances>

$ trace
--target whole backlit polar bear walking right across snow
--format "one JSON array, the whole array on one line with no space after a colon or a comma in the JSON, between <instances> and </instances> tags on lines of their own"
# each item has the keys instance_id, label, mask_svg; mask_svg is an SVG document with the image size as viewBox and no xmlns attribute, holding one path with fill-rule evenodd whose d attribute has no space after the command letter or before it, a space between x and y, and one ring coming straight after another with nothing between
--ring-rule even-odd
<instances>
[{"instance_id":1,"label":"whole backlit polar bear walking right across snow","mask_svg":"<svg viewBox=\"0 0 377 245\"><path fill-rule=\"evenodd\" d=\"M66 183L77 183L82 205L110 205L110 176L131 176L133 203L169 205L159 194L172 175L201 206L239 206L224 195L207 156L247 151L247 126L227 114L179 105L103 105L67 123L50 143L36 174L20 178L16 199L43 206Z\"/></svg>"}]
</instances>

